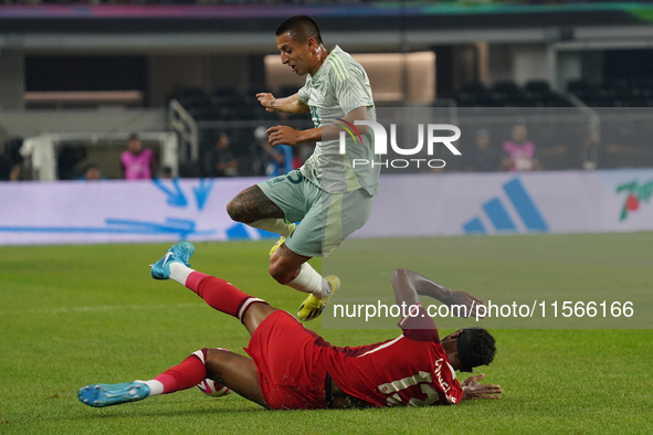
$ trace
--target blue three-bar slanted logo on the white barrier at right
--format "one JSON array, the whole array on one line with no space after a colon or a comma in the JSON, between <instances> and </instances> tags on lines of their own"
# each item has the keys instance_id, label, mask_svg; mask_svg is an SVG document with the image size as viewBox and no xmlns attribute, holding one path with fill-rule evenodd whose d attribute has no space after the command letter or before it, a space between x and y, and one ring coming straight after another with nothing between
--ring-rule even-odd
<instances>
[{"instance_id":1,"label":"blue three-bar slanted logo on the white barrier at right","mask_svg":"<svg viewBox=\"0 0 653 435\"><path fill-rule=\"evenodd\" d=\"M549 226L541 213L537 210L537 206L524 184L518 178L515 178L503 185L506 195L510 200L510 203L519 214L524 226L528 232L548 232ZM486 216L489 219L493 227L497 232L517 232L517 226L510 219L510 215L506 211L502 200L499 198L493 198L483 204L483 210ZM487 234L488 231L483 225L480 216L475 216L468 222L463 224L465 234Z\"/></svg>"}]
</instances>

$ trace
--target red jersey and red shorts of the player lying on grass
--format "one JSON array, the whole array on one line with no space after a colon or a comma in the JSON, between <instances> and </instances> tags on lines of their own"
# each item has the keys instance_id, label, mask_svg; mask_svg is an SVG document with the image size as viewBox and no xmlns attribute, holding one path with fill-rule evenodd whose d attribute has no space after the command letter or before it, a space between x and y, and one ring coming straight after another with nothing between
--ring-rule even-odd
<instances>
[{"instance_id":1,"label":"red jersey and red shorts of the player lying on grass","mask_svg":"<svg viewBox=\"0 0 653 435\"><path fill-rule=\"evenodd\" d=\"M345 393L373 406L459 403L463 391L433 319L420 306L417 316L406 317L399 327L403 333L394 340L339 348L277 310L256 328L245 351L274 410L327 407L327 373Z\"/></svg>"}]
</instances>

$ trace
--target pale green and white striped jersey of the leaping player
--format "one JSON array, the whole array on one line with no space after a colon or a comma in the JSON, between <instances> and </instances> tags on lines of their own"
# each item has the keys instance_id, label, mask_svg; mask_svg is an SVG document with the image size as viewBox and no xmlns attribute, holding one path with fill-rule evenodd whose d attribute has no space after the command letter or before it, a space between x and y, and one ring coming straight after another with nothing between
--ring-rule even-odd
<instances>
[{"instance_id":1,"label":"pale green and white striped jersey of the leaping player","mask_svg":"<svg viewBox=\"0 0 653 435\"><path fill-rule=\"evenodd\" d=\"M339 46L331 49L315 75L308 74L306 84L297 93L310 107L315 127L335 124L349 112L367 107L367 118L377 120L372 89L367 73ZM354 142L348 137L346 153L340 153L339 140L317 142L315 151L301 168L304 177L329 193L346 193L365 189L369 194L379 193L379 156L375 156L372 135L364 135ZM357 136L357 135L356 135ZM368 165L356 165L354 159L365 159ZM359 162L361 160L358 160Z\"/></svg>"}]
</instances>

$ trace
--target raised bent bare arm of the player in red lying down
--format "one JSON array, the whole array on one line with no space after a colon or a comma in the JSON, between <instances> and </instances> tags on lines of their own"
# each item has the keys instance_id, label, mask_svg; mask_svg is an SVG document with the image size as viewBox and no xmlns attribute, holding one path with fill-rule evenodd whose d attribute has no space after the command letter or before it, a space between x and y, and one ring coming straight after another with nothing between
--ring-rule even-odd
<instances>
[{"instance_id":1,"label":"raised bent bare arm of the player in red lying down","mask_svg":"<svg viewBox=\"0 0 653 435\"><path fill-rule=\"evenodd\" d=\"M451 288L441 286L433 280L408 269L397 269L392 274L392 288L394 289L394 299L397 304L407 305L420 304L420 295L429 296L440 300L442 304L451 307L453 305L464 305L467 307L467 316L476 316L477 307L483 306L483 300L466 291L455 291ZM463 312L464 310L459 310ZM483 316L478 316L482 318Z\"/></svg>"}]
</instances>

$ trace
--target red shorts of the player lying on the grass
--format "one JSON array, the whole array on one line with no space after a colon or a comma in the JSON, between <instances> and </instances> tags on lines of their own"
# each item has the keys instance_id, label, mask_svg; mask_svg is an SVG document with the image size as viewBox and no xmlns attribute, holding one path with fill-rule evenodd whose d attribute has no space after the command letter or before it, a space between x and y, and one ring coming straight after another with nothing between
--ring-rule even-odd
<instances>
[{"instance_id":1,"label":"red shorts of the player lying on the grass","mask_svg":"<svg viewBox=\"0 0 653 435\"><path fill-rule=\"evenodd\" d=\"M326 407L326 369L318 336L278 310L259 325L245 351L259 369L259 384L273 410Z\"/></svg>"}]
</instances>

